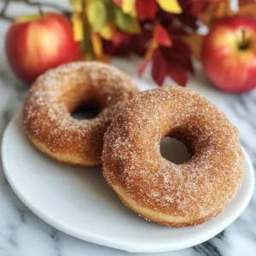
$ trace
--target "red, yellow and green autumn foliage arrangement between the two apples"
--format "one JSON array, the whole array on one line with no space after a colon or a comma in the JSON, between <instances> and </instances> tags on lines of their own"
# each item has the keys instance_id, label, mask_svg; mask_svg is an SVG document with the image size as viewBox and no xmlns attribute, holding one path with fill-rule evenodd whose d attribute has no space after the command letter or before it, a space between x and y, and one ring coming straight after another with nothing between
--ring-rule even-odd
<instances>
[{"instance_id":1,"label":"red, yellow and green autumn foliage arrangement between the two apples","mask_svg":"<svg viewBox=\"0 0 256 256\"><path fill-rule=\"evenodd\" d=\"M162 85L166 76L185 85L200 59L199 26L237 15L230 0L71 0L73 31L85 60L109 61L111 55L144 56L142 75L152 61L151 75ZM253 0L239 1L238 14L256 16Z\"/></svg>"}]
</instances>

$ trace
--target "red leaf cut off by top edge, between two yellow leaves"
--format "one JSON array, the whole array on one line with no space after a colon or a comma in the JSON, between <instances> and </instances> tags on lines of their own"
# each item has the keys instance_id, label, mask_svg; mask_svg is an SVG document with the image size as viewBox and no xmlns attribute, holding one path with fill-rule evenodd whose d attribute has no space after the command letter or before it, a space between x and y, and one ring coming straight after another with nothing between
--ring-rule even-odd
<instances>
[{"instance_id":1,"label":"red leaf cut off by top edge, between two yellow leaves","mask_svg":"<svg viewBox=\"0 0 256 256\"><path fill-rule=\"evenodd\" d=\"M156 8L155 0L137 0L137 18L139 20L154 19Z\"/></svg>"}]
</instances>

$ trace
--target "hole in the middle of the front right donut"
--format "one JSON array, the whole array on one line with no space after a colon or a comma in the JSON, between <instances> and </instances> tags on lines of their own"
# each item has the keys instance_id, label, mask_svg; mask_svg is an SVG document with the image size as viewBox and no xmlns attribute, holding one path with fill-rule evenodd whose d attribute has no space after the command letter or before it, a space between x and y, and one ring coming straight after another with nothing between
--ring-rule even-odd
<instances>
[{"instance_id":1,"label":"hole in the middle of the front right donut","mask_svg":"<svg viewBox=\"0 0 256 256\"><path fill-rule=\"evenodd\" d=\"M160 141L160 154L166 160L181 165L191 158L190 150L186 144L176 137L164 137Z\"/></svg>"}]
</instances>

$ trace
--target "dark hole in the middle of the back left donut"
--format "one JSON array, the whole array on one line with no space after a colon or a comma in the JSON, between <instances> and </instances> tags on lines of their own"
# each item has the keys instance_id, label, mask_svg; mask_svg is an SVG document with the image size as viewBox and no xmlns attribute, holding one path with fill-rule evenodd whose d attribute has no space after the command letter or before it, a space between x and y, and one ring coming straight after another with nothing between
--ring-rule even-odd
<instances>
[{"instance_id":1,"label":"dark hole in the middle of the back left donut","mask_svg":"<svg viewBox=\"0 0 256 256\"><path fill-rule=\"evenodd\" d=\"M73 119L95 119L98 114L101 112L101 109L96 106L96 104L84 104L76 108L71 116Z\"/></svg>"}]
</instances>

